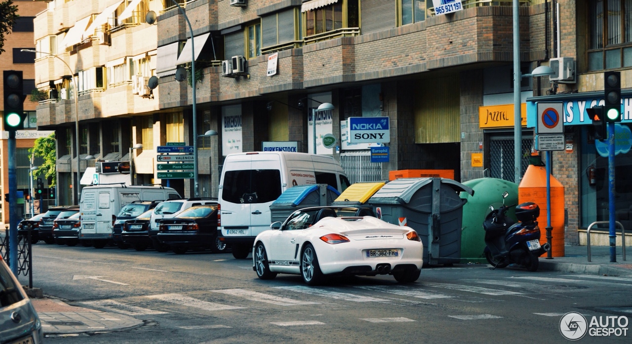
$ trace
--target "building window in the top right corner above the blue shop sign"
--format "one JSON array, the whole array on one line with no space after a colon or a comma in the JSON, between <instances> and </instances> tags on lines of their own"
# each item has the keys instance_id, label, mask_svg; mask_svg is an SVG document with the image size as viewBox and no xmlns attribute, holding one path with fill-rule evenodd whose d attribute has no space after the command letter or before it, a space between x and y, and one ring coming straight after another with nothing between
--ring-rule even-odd
<instances>
[{"instance_id":1,"label":"building window in the top right corner above the blue shop sign","mask_svg":"<svg viewBox=\"0 0 632 344\"><path fill-rule=\"evenodd\" d=\"M588 70L632 66L632 0L588 3Z\"/></svg>"}]
</instances>

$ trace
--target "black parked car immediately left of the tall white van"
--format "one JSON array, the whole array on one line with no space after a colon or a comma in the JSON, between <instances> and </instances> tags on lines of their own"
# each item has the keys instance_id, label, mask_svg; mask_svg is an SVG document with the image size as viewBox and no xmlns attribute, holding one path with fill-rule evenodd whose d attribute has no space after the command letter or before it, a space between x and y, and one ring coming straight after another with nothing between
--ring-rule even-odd
<instances>
[{"instance_id":1,"label":"black parked car immediately left of the tall white van","mask_svg":"<svg viewBox=\"0 0 632 344\"><path fill-rule=\"evenodd\" d=\"M159 230L159 242L176 254L197 248L213 253L226 251L226 244L217 238L217 204L180 211L173 218L162 220Z\"/></svg>"}]
</instances>

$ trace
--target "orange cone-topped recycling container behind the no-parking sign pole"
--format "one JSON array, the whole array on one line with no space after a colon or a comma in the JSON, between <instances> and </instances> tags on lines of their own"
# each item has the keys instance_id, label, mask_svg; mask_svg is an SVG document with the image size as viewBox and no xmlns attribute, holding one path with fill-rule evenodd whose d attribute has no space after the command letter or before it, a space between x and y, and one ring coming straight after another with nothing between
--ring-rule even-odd
<instances>
[{"instance_id":1,"label":"orange cone-topped recycling container behind the no-parking sign pole","mask_svg":"<svg viewBox=\"0 0 632 344\"><path fill-rule=\"evenodd\" d=\"M564 257L564 186L551 175L551 227L552 256ZM540 207L538 227L540 244L547 242L547 169L544 166L529 165L518 186L518 203L533 202Z\"/></svg>"}]
</instances>

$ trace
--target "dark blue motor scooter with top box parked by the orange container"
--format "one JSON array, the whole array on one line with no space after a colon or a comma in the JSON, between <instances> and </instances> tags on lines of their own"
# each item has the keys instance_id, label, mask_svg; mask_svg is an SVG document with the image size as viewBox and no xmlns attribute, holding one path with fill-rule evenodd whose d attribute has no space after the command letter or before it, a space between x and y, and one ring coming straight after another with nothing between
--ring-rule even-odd
<instances>
[{"instance_id":1,"label":"dark blue motor scooter with top box parked by the orange container","mask_svg":"<svg viewBox=\"0 0 632 344\"><path fill-rule=\"evenodd\" d=\"M504 268L509 264L519 264L528 271L538 270L538 257L549 251L549 244L540 246L540 227L535 220L540 216L540 207L532 202L516 206L518 223L506 216L507 210L513 206L504 205L509 196L502 193L502 206L490 211L485 216L485 258L495 268Z\"/></svg>"}]
</instances>

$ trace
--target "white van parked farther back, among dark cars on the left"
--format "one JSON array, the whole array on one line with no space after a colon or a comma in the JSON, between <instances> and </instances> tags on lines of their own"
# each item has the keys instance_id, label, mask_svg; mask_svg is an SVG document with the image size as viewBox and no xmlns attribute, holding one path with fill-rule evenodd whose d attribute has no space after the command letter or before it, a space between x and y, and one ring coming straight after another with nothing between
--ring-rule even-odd
<instances>
[{"instance_id":1,"label":"white van parked farther back, among dark cars on the left","mask_svg":"<svg viewBox=\"0 0 632 344\"><path fill-rule=\"evenodd\" d=\"M113 223L123 206L133 201L175 198L180 198L180 195L171 187L126 186L125 184L84 187L79 203L81 213L79 240L92 240L94 247L104 247L112 240Z\"/></svg>"}]
</instances>

